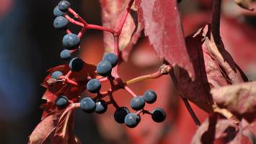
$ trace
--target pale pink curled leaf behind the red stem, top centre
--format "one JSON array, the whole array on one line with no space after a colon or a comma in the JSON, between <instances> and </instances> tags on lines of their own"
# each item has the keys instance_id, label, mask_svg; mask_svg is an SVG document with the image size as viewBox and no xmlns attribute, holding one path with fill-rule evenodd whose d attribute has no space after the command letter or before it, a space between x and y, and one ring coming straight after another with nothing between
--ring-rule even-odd
<instances>
[{"instance_id":1,"label":"pale pink curled leaf behind the red stem, top centre","mask_svg":"<svg viewBox=\"0 0 256 144\"><path fill-rule=\"evenodd\" d=\"M102 6L102 22L105 27L115 30L123 17L130 0L100 0ZM136 8L133 6L125 21L120 34L119 49L122 50L124 60L128 59L131 48L141 35L143 26L138 22ZM104 47L106 51L113 51L114 39L110 32L104 32Z\"/></svg>"}]
</instances>

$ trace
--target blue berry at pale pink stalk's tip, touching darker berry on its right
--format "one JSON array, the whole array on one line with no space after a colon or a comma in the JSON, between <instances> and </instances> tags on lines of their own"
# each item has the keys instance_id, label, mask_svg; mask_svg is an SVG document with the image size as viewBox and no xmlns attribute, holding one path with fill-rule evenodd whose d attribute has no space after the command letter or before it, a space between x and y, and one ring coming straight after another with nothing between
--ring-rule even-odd
<instances>
[{"instance_id":1,"label":"blue berry at pale pink stalk's tip, touching darker berry on its right","mask_svg":"<svg viewBox=\"0 0 256 144\"><path fill-rule=\"evenodd\" d=\"M96 104L91 98L85 97L81 99L80 107L84 112L92 113L96 109Z\"/></svg>"}]
</instances>

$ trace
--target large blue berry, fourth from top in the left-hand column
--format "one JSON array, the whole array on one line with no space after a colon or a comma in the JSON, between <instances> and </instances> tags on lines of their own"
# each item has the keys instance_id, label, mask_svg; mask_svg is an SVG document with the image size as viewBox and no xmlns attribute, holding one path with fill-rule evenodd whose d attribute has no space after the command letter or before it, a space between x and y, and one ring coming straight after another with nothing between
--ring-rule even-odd
<instances>
[{"instance_id":1,"label":"large blue berry, fourth from top in the left-hand column","mask_svg":"<svg viewBox=\"0 0 256 144\"><path fill-rule=\"evenodd\" d=\"M80 44L80 39L75 34L67 34L63 37L62 45L68 50L76 49Z\"/></svg>"}]
</instances>

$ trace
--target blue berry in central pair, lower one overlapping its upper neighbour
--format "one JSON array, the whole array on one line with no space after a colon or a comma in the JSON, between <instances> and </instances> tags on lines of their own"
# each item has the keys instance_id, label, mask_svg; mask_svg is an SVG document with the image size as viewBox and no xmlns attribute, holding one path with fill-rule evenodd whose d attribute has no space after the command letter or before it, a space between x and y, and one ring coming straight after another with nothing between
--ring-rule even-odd
<instances>
[{"instance_id":1,"label":"blue berry in central pair, lower one overlapping its upper neighbour","mask_svg":"<svg viewBox=\"0 0 256 144\"><path fill-rule=\"evenodd\" d=\"M109 76L112 71L111 63L106 60L102 60L100 63L98 63L96 70L100 76Z\"/></svg>"}]
</instances>

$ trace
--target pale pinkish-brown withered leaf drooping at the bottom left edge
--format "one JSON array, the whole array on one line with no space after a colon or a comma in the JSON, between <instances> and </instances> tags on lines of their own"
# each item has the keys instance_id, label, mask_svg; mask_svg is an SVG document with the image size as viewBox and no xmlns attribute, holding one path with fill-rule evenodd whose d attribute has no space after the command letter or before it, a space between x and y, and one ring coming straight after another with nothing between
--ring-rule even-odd
<instances>
[{"instance_id":1,"label":"pale pinkish-brown withered leaf drooping at the bottom left edge","mask_svg":"<svg viewBox=\"0 0 256 144\"><path fill-rule=\"evenodd\" d=\"M74 113L69 112L58 123L63 111L45 117L30 135L30 144L79 144L79 139L74 135Z\"/></svg>"}]
</instances>

